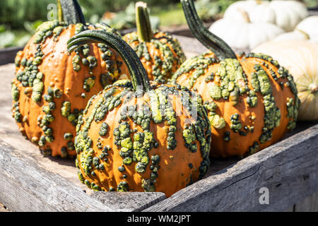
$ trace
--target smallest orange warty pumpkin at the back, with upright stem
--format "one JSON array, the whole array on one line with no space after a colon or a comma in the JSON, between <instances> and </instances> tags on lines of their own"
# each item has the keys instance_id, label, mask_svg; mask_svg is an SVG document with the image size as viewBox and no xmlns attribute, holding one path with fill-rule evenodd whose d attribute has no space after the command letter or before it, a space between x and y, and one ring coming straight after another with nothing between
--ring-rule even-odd
<instances>
[{"instance_id":1,"label":"smallest orange warty pumpkin at the back, with upright stem","mask_svg":"<svg viewBox=\"0 0 318 226\"><path fill-rule=\"evenodd\" d=\"M150 80L167 81L186 59L181 45L170 33L151 29L147 4L142 1L136 3L136 28L123 39L141 59Z\"/></svg>"}]
</instances>

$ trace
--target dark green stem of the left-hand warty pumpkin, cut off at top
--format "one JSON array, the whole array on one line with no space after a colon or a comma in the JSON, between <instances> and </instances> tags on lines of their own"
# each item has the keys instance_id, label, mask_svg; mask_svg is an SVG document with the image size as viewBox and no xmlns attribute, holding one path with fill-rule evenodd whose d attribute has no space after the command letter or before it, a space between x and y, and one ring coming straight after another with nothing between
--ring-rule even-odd
<instances>
[{"instance_id":1,"label":"dark green stem of the left-hand warty pumpkin, cut off at top","mask_svg":"<svg viewBox=\"0 0 318 226\"><path fill-rule=\"evenodd\" d=\"M76 0L58 0L57 4L61 4L64 22L66 22L67 24L86 24L81 6Z\"/></svg>"}]
</instances>

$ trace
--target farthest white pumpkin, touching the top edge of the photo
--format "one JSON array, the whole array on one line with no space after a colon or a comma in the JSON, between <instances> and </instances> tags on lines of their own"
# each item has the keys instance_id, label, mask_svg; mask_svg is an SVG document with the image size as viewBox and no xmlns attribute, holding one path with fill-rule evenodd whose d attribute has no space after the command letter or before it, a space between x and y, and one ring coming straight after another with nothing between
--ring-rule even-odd
<instances>
[{"instance_id":1,"label":"farthest white pumpkin, touching the top edge of the photo","mask_svg":"<svg viewBox=\"0 0 318 226\"><path fill-rule=\"evenodd\" d=\"M236 1L224 13L224 18L244 20L240 10L247 11L252 23L272 23L286 32L294 30L308 16L305 4L299 1Z\"/></svg>"}]
</instances>

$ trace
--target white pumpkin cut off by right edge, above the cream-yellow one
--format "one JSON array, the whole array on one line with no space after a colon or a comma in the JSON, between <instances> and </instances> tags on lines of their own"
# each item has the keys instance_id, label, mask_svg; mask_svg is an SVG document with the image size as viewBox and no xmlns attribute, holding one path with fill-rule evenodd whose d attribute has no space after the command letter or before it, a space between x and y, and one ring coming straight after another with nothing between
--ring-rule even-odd
<instances>
[{"instance_id":1,"label":"white pumpkin cut off by right edge, above the cream-yellow one","mask_svg":"<svg viewBox=\"0 0 318 226\"><path fill-rule=\"evenodd\" d=\"M279 40L310 40L318 43L318 16L309 16L298 23L293 32L286 32L273 39Z\"/></svg>"}]
</instances>

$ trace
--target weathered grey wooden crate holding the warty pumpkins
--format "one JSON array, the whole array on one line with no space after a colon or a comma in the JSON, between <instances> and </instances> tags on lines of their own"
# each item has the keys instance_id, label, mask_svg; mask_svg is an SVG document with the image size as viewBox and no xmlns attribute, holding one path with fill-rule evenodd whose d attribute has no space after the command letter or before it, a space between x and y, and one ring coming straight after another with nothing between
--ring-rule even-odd
<instances>
[{"instance_id":1,"label":"weathered grey wooden crate holding the warty pumpkins","mask_svg":"<svg viewBox=\"0 0 318 226\"><path fill-rule=\"evenodd\" d=\"M192 38L177 38L187 57L206 50ZM170 198L159 192L96 192L78 180L74 159L44 157L20 135L11 117L14 65L0 66L0 76L0 203L8 210L317 210L318 121L298 122L282 141L245 159L212 159L204 179ZM268 189L269 204L259 202L261 188Z\"/></svg>"}]
</instances>

